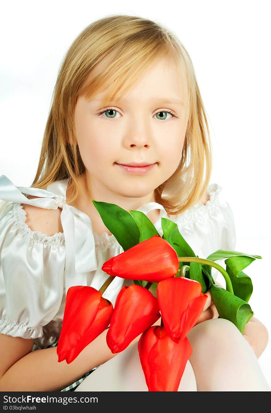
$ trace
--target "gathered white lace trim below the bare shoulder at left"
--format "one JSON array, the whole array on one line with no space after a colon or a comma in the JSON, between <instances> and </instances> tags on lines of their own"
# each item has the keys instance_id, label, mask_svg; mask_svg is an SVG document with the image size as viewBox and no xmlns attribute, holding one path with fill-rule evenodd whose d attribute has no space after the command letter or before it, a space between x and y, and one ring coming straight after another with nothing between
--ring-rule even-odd
<instances>
[{"instance_id":1,"label":"gathered white lace trim below the bare shoulder at left","mask_svg":"<svg viewBox=\"0 0 271 413\"><path fill-rule=\"evenodd\" d=\"M12 219L14 220L15 225L19 229L19 232L23 235L30 237L31 242L37 242L43 244L44 247L64 247L65 238L64 233L56 233L54 235L46 235L40 231L32 231L29 226L26 224L26 211L23 209L23 206L17 202L14 203L14 206L11 210Z\"/></svg>"}]
</instances>

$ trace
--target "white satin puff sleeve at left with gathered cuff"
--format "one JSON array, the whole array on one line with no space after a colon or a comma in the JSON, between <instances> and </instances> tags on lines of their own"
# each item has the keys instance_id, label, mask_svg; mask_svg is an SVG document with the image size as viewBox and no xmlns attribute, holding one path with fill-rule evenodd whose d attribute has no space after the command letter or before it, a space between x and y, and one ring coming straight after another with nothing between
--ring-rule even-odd
<instances>
[{"instance_id":1,"label":"white satin puff sleeve at left with gathered cuff","mask_svg":"<svg viewBox=\"0 0 271 413\"><path fill-rule=\"evenodd\" d=\"M0 333L35 339L62 303L64 236L31 231L25 220L20 204L0 201Z\"/></svg>"}]
</instances>

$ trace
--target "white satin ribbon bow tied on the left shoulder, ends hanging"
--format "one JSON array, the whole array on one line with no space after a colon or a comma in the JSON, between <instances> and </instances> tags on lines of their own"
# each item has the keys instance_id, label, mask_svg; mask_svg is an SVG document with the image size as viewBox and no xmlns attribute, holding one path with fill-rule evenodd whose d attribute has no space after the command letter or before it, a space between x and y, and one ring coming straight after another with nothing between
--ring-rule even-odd
<instances>
[{"instance_id":1,"label":"white satin ribbon bow tied on the left shoulder, ends hanging","mask_svg":"<svg viewBox=\"0 0 271 413\"><path fill-rule=\"evenodd\" d=\"M0 199L3 201L29 204L45 209L62 208L60 219L65 238L65 288L66 296L69 287L87 285L86 272L97 270L95 240L91 220L88 215L75 207L66 204L66 188L64 181L55 181L44 189L15 186L5 175L0 176ZM24 196L40 197L28 199ZM56 205L58 204L59 205Z\"/></svg>"}]
</instances>

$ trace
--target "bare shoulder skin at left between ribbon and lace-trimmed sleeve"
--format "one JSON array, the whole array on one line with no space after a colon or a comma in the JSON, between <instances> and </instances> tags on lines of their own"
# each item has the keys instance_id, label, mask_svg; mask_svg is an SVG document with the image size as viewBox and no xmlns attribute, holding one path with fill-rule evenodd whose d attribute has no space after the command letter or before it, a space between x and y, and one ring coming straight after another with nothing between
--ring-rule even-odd
<instances>
[{"instance_id":1,"label":"bare shoulder skin at left between ribbon and lace-trimmed sleeve","mask_svg":"<svg viewBox=\"0 0 271 413\"><path fill-rule=\"evenodd\" d=\"M28 196L28 199L36 199L38 197ZM61 224L61 208L46 209L39 208L29 204L21 204L22 209L26 213L25 223L32 231L38 231L48 236L63 232Z\"/></svg>"}]
</instances>

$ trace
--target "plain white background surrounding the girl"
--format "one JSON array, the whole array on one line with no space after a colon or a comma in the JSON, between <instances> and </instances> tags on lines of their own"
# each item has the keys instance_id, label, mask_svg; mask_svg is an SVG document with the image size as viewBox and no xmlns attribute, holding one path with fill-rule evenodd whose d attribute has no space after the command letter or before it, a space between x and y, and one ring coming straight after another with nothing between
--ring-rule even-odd
<instances>
[{"instance_id":1,"label":"plain white background surrounding the girl","mask_svg":"<svg viewBox=\"0 0 271 413\"><path fill-rule=\"evenodd\" d=\"M214 148L211 182L235 217L250 305L271 336L269 1L11 1L1 7L0 175L29 186L36 174L59 65L72 41L109 14L139 15L174 31L188 50ZM225 266L226 267L226 266ZM271 386L271 340L259 358Z\"/></svg>"}]
</instances>

